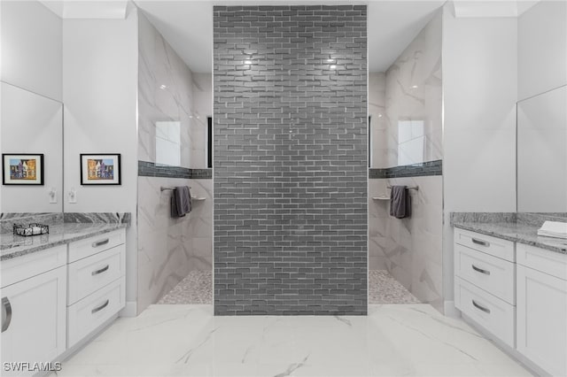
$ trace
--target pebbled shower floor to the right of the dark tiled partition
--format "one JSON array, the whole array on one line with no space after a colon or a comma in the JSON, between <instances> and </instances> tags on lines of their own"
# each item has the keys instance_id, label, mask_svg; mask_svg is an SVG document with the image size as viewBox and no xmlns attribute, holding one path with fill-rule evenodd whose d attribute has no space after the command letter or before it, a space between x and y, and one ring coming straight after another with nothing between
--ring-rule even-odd
<instances>
[{"instance_id":1,"label":"pebbled shower floor to the right of the dark tiled partition","mask_svg":"<svg viewBox=\"0 0 567 377\"><path fill-rule=\"evenodd\" d=\"M420 304L386 270L369 270L369 304Z\"/></svg>"}]
</instances>

